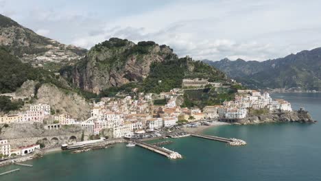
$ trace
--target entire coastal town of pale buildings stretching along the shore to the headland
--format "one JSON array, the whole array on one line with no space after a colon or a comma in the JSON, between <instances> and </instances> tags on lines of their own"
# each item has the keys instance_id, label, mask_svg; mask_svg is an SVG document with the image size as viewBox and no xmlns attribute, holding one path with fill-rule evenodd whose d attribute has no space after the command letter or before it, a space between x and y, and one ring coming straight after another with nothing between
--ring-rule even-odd
<instances>
[{"instance_id":1,"label":"entire coastal town of pale buildings stretching along the shore to the headland","mask_svg":"<svg viewBox=\"0 0 321 181\"><path fill-rule=\"evenodd\" d=\"M221 82L207 80L183 80L182 87L202 88L211 85L219 88ZM204 108L184 108L177 104L184 89L174 88L167 93L144 94L136 97L103 97L91 104L88 119L80 121L69 114L52 114L50 105L30 104L29 108L16 114L5 114L0 123L8 126L12 123L43 123L46 130L58 130L63 126L78 125L82 130L97 138L150 138L161 136L160 131L171 128L195 128L199 125L211 125L215 122L233 123L245 119L251 112L292 112L291 104L283 99L273 100L269 93L257 90L237 90L232 101L222 105ZM165 101L156 105L157 100ZM154 134L145 134L154 132ZM107 136L106 136L107 135ZM64 143L68 144L68 143ZM234 143L233 143L234 144ZM24 156L40 149L40 145L10 147L10 140L0 142L2 156Z\"/></svg>"}]
</instances>

